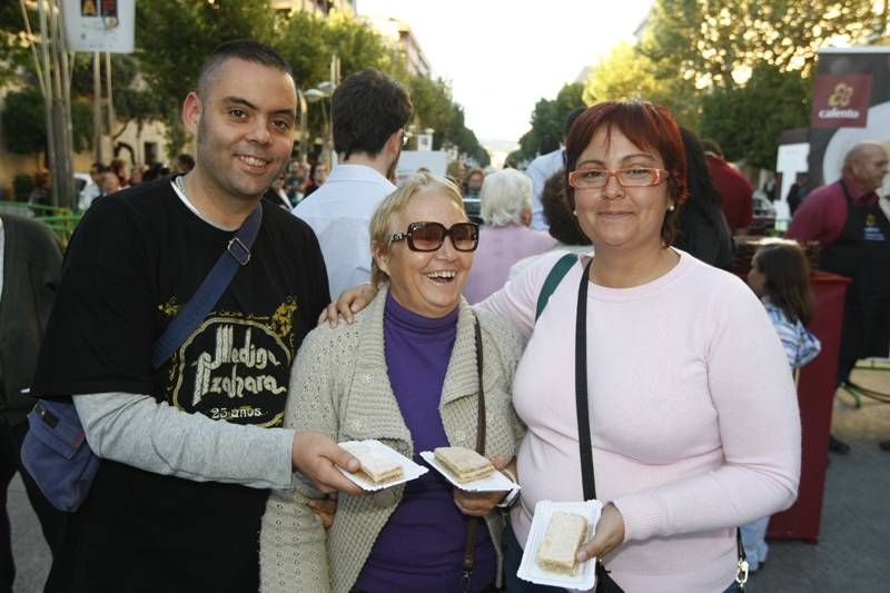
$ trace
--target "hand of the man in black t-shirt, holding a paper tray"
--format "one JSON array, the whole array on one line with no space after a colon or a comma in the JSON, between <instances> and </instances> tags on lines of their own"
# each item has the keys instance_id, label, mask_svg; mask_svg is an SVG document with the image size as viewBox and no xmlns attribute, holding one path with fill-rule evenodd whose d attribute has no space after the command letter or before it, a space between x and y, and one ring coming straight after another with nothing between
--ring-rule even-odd
<instances>
[{"instance_id":1,"label":"hand of the man in black t-shirt, holding a paper tray","mask_svg":"<svg viewBox=\"0 0 890 593\"><path fill-rule=\"evenodd\" d=\"M297 433L294 435L290 457L294 471L308 477L325 494L337 491L356 495L363 493L334 467L339 465L348 472L357 472L362 464L326 434Z\"/></svg>"}]
</instances>

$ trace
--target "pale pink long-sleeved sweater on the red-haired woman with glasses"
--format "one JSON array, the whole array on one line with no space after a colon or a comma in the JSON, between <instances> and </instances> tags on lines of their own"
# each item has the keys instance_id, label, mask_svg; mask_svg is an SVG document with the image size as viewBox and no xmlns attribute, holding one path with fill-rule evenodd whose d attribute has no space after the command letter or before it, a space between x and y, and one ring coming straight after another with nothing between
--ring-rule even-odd
<instances>
[{"instance_id":1,"label":"pale pink long-sleeved sweater on the red-haired woman with glasses","mask_svg":"<svg viewBox=\"0 0 890 593\"><path fill-rule=\"evenodd\" d=\"M574 402L581 264L534 325L560 255L482 304L531 335L513 392L528 426L512 517L521 543L537 501L583 497ZM723 591L735 574L735 526L790 506L800 475L794 386L763 306L739 278L680 255L654 281L593 285L587 296L596 493L625 523L606 567L627 593Z\"/></svg>"}]
</instances>

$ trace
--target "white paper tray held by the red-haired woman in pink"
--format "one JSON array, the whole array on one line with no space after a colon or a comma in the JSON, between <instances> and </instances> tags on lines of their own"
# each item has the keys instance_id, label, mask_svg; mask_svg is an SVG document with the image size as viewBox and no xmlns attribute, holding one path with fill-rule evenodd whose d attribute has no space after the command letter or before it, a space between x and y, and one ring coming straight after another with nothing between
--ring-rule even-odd
<instances>
[{"instance_id":1,"label":"white paper tray held by the red-haired woman in pink","mask_svg":"<svg viewBox=\"0 0 890 593\"><path fill-rule=\"evenodd\" d=\"M561 586L577 591L590 591L596 585L596 565L591 559L581 565L581 570L575 576L545 571L537 565L537 548L544 541L544 533L550 525L553 513L561 511L566 513L577 513L587 518L590 528L585 543L593 538L593 527L600 521L600 512L603 503L600 501L587 501L585 503L554 503L552 501L540 501L535 505L535 516L532 527L528 530L528 538L525 541L525 548L516 575L524 580L540 585Z\"/></svg>"}]
</instances>

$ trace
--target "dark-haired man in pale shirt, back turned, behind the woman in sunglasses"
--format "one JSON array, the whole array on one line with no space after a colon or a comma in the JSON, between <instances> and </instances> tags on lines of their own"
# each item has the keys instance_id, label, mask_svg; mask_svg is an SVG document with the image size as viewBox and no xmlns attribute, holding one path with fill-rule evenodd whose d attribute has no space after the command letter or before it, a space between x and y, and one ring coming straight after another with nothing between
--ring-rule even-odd
<instances>
[{"instance_id":1,"label":"dark-haired man in pale shirt, back turned, behind the woman in sunglasses","mask_svg":"<svg viewBox=\"0 0 890 593\"><path fill-rule=\"evenodd\" d=\"M408 93L395 80L365 68L343 81L330 105L338 165L294 214L318 237L330 295L370 280L368 224L395 186L405 126L412 115Z\"/></svg>"}]
</instances>

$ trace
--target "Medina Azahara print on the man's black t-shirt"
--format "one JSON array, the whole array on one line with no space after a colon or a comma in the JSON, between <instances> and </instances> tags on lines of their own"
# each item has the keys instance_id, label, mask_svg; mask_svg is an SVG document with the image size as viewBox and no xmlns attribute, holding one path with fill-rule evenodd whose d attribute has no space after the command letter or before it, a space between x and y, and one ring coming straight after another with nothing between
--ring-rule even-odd
<instances>
[{"instance_id":1,"label":"Medina Azahara print on the man's black t-shirt","mask_svg":"<svg viewBox=\"0 0 890 593\"><path fill-rule=\"evenodd\" d=\"M279 426L294 358L288 298L270 316L211 313L174 355L167 401L214 419Z\"/></svg>"}]
</instances>

